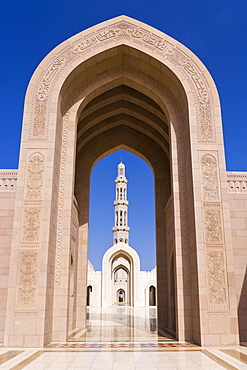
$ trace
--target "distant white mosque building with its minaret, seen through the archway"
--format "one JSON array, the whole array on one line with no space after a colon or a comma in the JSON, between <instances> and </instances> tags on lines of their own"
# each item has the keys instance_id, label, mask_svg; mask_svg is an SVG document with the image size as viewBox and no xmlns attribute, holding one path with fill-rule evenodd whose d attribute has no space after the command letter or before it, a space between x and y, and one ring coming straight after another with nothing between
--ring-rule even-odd
<instances>
[{"instance_id":1,"label":"distant white mosque building with its minaret, seen through the archway","mask_svg":"<svg viewBox=\"0 0 247 370\"><path fill-rule=\"evenodd\" d=\"M118 165L115 183L113 246L103 256L102 271L95 271L88 261L87 305L155 306L156 267L152 271L140 271L139 255L129 246L128 181L122 162Z\"/></svg>"}]
</instances>

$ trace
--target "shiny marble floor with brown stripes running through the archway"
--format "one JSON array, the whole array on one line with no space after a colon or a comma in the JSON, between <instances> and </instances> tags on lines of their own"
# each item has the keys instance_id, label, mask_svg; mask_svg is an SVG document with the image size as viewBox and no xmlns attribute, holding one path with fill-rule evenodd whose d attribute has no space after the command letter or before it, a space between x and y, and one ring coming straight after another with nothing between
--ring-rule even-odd
<instances>
[{"instance_id":1,"label":"shiny marble floor with brown stripes running through the archway","mask_svg":"<svg viewBox=\"0 0 247 370\"><path fill-rule=\"evenodd\" d=\"M0 369L247 369L247 343L201 348L157 333L156 309L90 308L87 328L45 348L0 348Z\"/></svg>"}]
</instances>

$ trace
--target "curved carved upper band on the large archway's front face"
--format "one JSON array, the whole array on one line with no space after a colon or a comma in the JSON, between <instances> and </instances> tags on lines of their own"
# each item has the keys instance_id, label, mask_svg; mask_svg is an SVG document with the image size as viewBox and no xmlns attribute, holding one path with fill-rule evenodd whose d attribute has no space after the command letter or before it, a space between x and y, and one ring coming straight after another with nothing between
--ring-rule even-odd
<instances>
[{"instance_id":1,"label":"curved carved upper band on the large archway's front face","mask_svg":"<svg viewBox=\"0 0 247 370\"><path fill-rule=\"evenodd\" d=\"M48 101L51 99L51 91L53 94L61 91L70 72L89 58L106 50L110 52L118 45L129 45L149 55L150 60L160 61L177 76L187 92L189 107L197 106L198 141L214 143L216 133L213 110L214 106L219 106L219 101L217 90L205 66L179 42L126 16L82 31L60 44L41 63L30 82L33 107L29 139L47 140L50 108Z\"/></svg>"}]
</instances>

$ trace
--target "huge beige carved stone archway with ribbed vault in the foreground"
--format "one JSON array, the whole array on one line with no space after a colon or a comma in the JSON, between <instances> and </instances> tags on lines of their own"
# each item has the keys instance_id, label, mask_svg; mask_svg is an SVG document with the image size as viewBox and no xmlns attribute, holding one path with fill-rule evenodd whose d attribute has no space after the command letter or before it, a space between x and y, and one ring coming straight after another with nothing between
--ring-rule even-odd
<instances>
[{"instance_id":1,"label":"huge beige carved stone archway with ribbed vault in the foreground","mask_svg":"<svg viewBox=\"0 0 247 370\"><path fill-rule=\"evenodd\" d=\"M59 45L30 81L6 346L67 340L71 254L74 320L85 325L90 172L120 148L145 159L155 177L159 327L168 326L174 255L177 339L238 342L216 87L186 47L121 16Z\"/></svg>"}]
</instances>

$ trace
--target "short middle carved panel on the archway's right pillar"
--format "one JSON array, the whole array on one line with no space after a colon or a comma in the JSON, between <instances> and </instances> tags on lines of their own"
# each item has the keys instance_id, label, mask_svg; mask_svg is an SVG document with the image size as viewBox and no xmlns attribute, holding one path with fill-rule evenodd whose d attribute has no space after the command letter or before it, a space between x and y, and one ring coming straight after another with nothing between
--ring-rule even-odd
<instances>
[{"instance_id":1,"label":"short middle carved panel on the archway's right pillar","mask_svg":"<svg viewBox=\"0 0 247 370\"><path fill-rule=\"evenodd\" d=\"M222 241L221 214L219 209L205 209L206 242L219 243Z\"/></svg>"}]
</instances>

